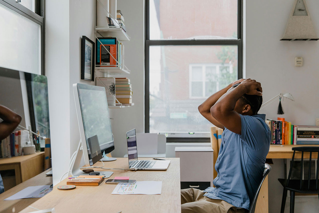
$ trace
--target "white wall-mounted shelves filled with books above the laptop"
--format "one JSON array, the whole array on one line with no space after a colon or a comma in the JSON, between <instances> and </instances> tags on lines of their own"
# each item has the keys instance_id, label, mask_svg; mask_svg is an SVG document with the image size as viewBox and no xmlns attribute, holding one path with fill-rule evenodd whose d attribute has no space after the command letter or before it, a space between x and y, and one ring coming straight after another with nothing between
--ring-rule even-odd
<instances>
[{"instance_id":1,"label":"white wall-mounted shelves filled with books above the laptop","mask_svg":"<svg viewBox=\"0 0 319 213\"><path fill-rule=\"evenodd\" d=\"M130 41L130 37L126 34L124 16L120 10L117 10L116 15L112 16L106 7L97 0L96 12L101 11L101 8L106 13L97 14L99 22L95 16L95 70L106 73L106 75L103 78L96 78L95 85L105 87L108 108L130 107L134 105L130 79L110 78L109 76L130 74L130 70L124 63L125 48L122 42Z\"/></svg>"}]
</instances>

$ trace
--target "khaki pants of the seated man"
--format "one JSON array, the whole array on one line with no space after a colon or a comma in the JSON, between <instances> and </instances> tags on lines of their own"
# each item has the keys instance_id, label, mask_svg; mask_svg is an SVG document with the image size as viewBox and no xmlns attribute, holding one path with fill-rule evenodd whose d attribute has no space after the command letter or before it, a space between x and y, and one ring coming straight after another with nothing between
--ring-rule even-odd
<instances>
[{"instance_id":1,"label":"khaki pants of the seated man","mask_svg":"<svg viewBox=\"0 0 319 213\"><path fill-rule=\"evenodd\" d=\"M210 199L199 189L189 188L181 190L182 213L247 213L247 209L236 209L223 200Z\"/></svg>"}]
</instances>

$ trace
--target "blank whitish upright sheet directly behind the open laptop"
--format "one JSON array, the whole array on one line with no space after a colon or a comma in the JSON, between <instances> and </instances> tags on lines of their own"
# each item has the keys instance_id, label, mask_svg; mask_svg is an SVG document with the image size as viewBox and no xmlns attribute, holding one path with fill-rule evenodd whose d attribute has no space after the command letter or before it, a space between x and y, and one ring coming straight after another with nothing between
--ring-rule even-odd
<instances>
[{"instance_id":1,"label":"blank whitish upright sheet directly behind the open laptop","mask_svg":"<svg viewBox=\"0 0 319 213\"><path fill-rule=\"evenodd\" d=\"M137 155L157 154L157 133L136 133Z\"/></svg>"}]
</instances>

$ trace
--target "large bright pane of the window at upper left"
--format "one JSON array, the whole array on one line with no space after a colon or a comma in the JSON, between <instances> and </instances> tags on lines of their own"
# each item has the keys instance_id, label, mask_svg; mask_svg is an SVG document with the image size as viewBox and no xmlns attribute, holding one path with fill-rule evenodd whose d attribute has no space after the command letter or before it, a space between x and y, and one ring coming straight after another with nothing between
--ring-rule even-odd
<instances>
[{"instance_id":1,"label":"large bright pane of the window at upper left","mask_svg":"<svg viewBox=\"0 0 319 213\"><path fill-rule=\"evenodd\" d=\"M0 4L0 66L41 74L41 26Z\"/></svg>"}]
</instances>

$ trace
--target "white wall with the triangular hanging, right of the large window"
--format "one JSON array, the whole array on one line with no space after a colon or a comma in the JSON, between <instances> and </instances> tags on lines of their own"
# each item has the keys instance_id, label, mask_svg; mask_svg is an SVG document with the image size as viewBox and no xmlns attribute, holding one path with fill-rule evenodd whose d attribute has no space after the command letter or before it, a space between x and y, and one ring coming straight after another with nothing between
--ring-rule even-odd
<instances>
[{"instance_id":1,"label":"white wall with the triangular hanging, right of the large window","mask_svg":"<svg viewBox=\"0 0 319 213\"><path fill-rule=\"evenodd\" d=\"M264 102L278 93L291 93L295 99L282 101L284 115L277 115L278 102L261 110L267 118L284 117L295 125L315 125L319 118L318 41L280 41L294 1L246 1L246 78L260 81ZM308 9L319 36L319 1L307 0ZM304 58L302 67L294 66L294 57ZM269 212L279 212L284 177L283 160L275 160L269 174ZM306 202L307 200L307 202ZM318 197L296 197L295 212L317 212ZM289 201L286 212L289 212Z\"/></svg>"}]
</instances>

